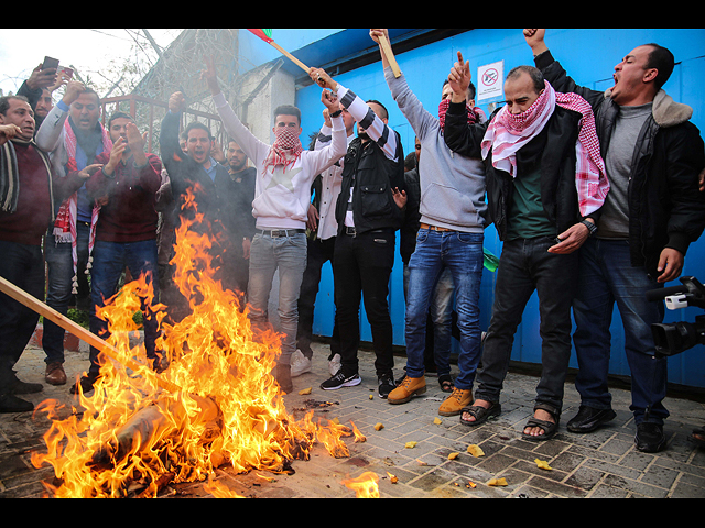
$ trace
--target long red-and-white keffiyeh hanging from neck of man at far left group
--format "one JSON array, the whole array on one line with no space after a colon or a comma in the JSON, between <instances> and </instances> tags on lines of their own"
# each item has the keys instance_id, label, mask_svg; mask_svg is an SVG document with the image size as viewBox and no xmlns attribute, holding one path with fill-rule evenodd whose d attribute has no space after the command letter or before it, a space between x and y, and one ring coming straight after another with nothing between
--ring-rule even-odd
<instances>
[{"instance_id":1,"label":"long red-and-white keffiyeh hanging from neck of man at far left group","mask_svg":"<svg viewBox=\"0 0 705 528\"><path fill-rule=\"evenodd\" d=\"M112 150L112 141L108 135L108 132L105 128L100 127L102 131L102 148L105 152L110 152ZM68 163L66 164L66 174L70 172L78 170L78 164L76 163L76 147L78 145L78 141L76 140L76 134L74 129L70 127L68 119L64 124L64 144L66 145L66 153L68 154ZM62 207L56 215L56 220L54 221L54 238L56 242L70 242L72 244L72 256L74 260L74 277L72 279L73 289L72 294L76 295L78 293L78 251L77 251L77 241L76 241L76 219L78 210L78 193L74 193L74 195L65 200L62 204ZM90 217L90 237L88 240L88 264L86 268L86 274L89 273L93 262L93 248L96 243L96 224L98 223L98 216L100 212L100 206L95 202L93 207L93 213Z\"/></svg>"}]
</instances>

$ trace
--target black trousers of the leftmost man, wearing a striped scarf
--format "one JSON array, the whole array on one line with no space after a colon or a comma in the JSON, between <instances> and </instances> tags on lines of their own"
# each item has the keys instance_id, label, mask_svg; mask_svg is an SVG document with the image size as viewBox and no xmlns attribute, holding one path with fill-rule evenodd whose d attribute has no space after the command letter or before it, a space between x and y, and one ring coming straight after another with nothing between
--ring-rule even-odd
<instances>
[{"instance_id":1,"label":"black trousers of the leftmost man, wearing a striped scarf","mask_svg":"<svg viewBox=\"0 0 705 528\"><path fill-rule=\"evenodd\" d=\"M44 301L44 256L39 245L0 241L0 276ZM32 339L39 314L0 293L0 394L14 380L14 364Z\"/></svg>"}]
</instances>

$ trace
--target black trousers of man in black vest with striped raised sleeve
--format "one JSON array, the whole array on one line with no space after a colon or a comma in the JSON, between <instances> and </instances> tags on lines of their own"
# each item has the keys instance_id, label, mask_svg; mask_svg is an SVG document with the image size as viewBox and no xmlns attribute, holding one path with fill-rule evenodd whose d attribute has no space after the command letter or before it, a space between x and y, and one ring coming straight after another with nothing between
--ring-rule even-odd
<instances>
[{"instance_id":1,"label":"black trousers of man in black vest with striped raised sleeve","mask_svg":"<svg viewBox=\"0 0 705 528\"><path fill-rule=\"evenodd\" d=\"M338 235L335 244L335 302L340 334L343 373L358 373L360 300L372 330L377 376L393 377L392 321L389 316L389 277L394 266L397 235L393 230L357 237Z\"/></svg>"}]
</instances>

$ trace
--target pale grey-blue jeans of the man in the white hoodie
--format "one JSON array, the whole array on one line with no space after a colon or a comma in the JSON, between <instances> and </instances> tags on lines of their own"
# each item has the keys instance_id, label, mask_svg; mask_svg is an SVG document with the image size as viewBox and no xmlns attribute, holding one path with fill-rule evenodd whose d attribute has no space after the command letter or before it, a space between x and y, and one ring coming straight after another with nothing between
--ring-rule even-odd
<instances>
[{"instance_id":1,"label":"pale grey-blue jeans of the man in the white hoodie","mask_svg":"<svg viewBox=\"0 0 705 528\"><path fill-rule=\"evenodd\" d=\"M257 333L269 326L268 305L274 273L279 270L278 315L282 336L279 363L291 364L296 350L299 328L299 295L306 268L307 243L304 233L273 238L258 233L250 248L250 282L248 286L249 318Z\"/></svg>"}]
</instances>

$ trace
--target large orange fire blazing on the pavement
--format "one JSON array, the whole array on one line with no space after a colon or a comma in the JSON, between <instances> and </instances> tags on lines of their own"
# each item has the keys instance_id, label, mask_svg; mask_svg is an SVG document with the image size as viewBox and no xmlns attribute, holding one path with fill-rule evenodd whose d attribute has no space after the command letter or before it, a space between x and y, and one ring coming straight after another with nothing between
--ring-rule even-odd
<instances>
[{"instance_id":1,"label":"large orange fire blazing on the pavement","mask_svg":"<svg viewBox=\"0 0 705 528\"><path fill-rule=\"evenodd\" d=\"M186 207L196 210L193 197ZM314 424L313 410L300 421L286 413L271 375L280 338L256 337L237 295L213 278L212 244L198 232L202 222L199 213L183 222L172 261L191 315L171 326L165 307L155 309L162 332L158 350L169 369L154 375L144 346L130 346L140 297L153 297L141 277L98 312L108 321L108 343L118 356L101 365L95 392L79 394L80 409L68 418L59 418L66 413L55 402L37 409L52 426L44 435L46 453L33 453L32 463L54 468L58 484L45 483L53 496L127 497L137 488L139 496L155 497L163 486L185 482L204 482L214 496L232 496L213 480L215 469L282 473L293 460L308 460L316 442L340 458L349 457L341 437L364 441L355 426L351 431L327 420Z\"/></svg>"}]
</instances>

